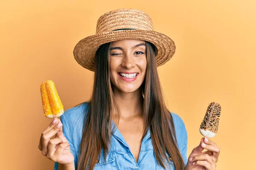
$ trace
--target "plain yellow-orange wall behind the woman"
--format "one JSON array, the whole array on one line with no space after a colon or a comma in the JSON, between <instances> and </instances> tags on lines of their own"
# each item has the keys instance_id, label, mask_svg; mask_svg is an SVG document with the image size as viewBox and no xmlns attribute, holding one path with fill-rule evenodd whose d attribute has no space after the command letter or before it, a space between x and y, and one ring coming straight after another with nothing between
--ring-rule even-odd
<instances>
[{"instance_id":1,"label":"plain yellow-orange wall behind the woman","mask_svg":"<svg viewBox=\"0 0 256 170\"><path fill-rule=\"evenodd\" d=\"M221 104L217 170L253 169L256 106L254 0L13 0L0 2L1 170L53 170L38 149L44 117L40 85L51 79L67 110L89 99L93 72L73 48L107 11L137 8L171 37L174 57L159 67L169 110L188 130L188 155L201 139L210 102Z\"/></svg>"}]
</instances>

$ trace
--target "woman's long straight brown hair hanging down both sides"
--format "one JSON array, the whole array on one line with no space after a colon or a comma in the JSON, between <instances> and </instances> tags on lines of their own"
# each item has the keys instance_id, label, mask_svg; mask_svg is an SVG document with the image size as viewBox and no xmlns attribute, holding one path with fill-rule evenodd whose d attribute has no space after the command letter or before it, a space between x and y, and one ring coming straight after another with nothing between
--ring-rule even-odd
<instances>
[{"instance_id":1,"label":"woman's long straight brown hair hanging down both sides","mask_svg":"<svg viewBox=\"0 0 256 170\"><path fill-rule=\"evenodd\" d=\"M172 115L163 99L160 80L157 73L155 55L157 50L151 42L145 41L147 68L141 85L143 100L143 119L145 136L150 127L151 141L157 162L166 168L163 160L169 157L175 169L183 170L184 163L177 147L177 139ZM101 45L95 55L94 85L89 110L85 114L83 136L79 147L78 170L93 170L101 150L108 153L111 137L111 117L118 113L113 95L109 71L110 42ZM161 135L159 135L161 134ZM167 154L166 154L167 153ZM169 155L169 157L168 157Z\"/></svg>"}]
</instances>

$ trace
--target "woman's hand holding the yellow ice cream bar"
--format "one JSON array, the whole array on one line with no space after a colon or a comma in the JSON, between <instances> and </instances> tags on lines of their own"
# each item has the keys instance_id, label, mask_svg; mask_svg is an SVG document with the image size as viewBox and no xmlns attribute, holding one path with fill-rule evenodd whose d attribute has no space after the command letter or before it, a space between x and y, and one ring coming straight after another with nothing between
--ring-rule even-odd
<instances>
[{"instance_id":1,"label":"woman's hand holding the yellow ice cream bar","mask_svg":"<svg viewBox=\"0 0 256 170\"><path fill-rule=\"evenodd\" d=\"M52 136L55 138L50 139ZM41 133L39 150L48 159L59 164L73 164L74 156L70 151L70 145L62 131L60 119L54 118L53 121Z\"/></svg>"}]
</instances>

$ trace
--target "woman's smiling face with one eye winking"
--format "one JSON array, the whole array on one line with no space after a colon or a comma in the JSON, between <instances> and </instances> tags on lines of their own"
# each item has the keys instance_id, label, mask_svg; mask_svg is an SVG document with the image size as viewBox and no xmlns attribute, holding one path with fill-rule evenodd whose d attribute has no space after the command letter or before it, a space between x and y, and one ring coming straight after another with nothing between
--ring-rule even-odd
<instances>
[{"instance_id":1,"label":"woman's smiling face with one eye winking","mask_svg":"<svg viewBox=\"0 0 256 170\"><path fill-rule=\"evenodd\" d=\"M111 42L109 62L113 88L125 93L136 91L145 79L147 68L145 41L118 40Z\"/></svg>"}]
</instances>

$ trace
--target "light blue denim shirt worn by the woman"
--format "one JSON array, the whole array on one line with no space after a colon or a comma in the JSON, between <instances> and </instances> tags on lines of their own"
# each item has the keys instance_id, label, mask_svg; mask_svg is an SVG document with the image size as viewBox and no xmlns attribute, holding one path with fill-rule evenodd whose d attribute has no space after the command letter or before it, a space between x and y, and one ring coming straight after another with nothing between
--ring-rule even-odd
<instances>
[{"instance_id":1,"label":"light blue denim shirt worn by the woman","mask_svg":"<svg viewBox=\"0 0 256 170\"><path fill-rule=\"evenodd\" d=\"M70 144L70 150L75 160L75 168L77 170L77 163L79 157L79 145L82 137L82 125L84 121L84 113L88 111L88 102L84 102L81 105L70 108L61 116L61 122L63 124L63 133ZM186 127L180 118L175 113L172 113L177 145L180 154L183 158L183 162L186 166L187 163L187 131ZM112 123L112 129L116 126ZM167 155L168 156L168 155ZM169 156L168 156L169 157ZM172 168L175 170L173 161L166 161L167 169ZM96 163L94 170L164 170L160 164L157 164L157 159L154 154L153 144L150 138L150 130L148 131L141 142L140 154L138 162L134 159L128 144L125 142L120 131L116 128L111 136L111 146L109 148L106 160L104 159L103 150L99 155L99 161ZM58 170L58 163L54 162L54 170Z\"/></svg>"}]
</instances>

